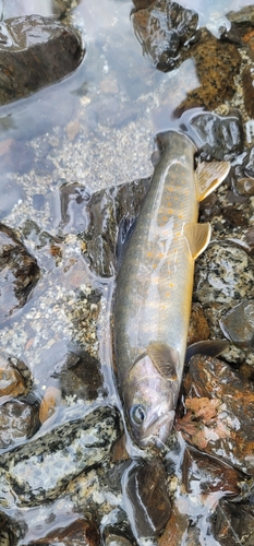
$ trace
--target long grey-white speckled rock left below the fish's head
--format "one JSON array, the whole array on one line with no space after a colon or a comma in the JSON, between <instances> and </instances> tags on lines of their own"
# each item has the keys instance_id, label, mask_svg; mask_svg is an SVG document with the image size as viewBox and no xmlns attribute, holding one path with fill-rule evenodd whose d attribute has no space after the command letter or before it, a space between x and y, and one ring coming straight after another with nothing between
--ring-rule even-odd
<instances>
[{"instance_id":1,"label":"long grey-white speckled rock left below the fish's head","mask_svg":"<svg viewBox=\"0 0 254 546\"><path fill-rule=\"evenodd\" d=\"M3 490L9 483L19 506L37 506L57 498L77 474L108 455L119 427L117 411L101 406L83 419L60 425L3 454ZM3 491L1 495L4 498Z\"/></svg>"}]
</instances>

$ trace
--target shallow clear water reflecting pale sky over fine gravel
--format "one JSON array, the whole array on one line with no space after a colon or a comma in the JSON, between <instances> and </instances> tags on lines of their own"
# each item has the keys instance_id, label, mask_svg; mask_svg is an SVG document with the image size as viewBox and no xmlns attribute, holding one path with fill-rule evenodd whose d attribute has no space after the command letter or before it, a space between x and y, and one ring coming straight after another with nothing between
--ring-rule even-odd
<instances>
[{"instance_id":1,"label":"shallow clear water reflecting pale sky over fine gravel","mask_svg":"<svg viewBox=\"0 0 254 546\"><path fill-rule=\"evenodd\" d=\"M199 24L207 25L215 35L227 12L250 3L181 2L196 9ZM36 13L58 14L57 2L49 0L2 0L2 20L33 13L35 4ZM104 373L99 400L108 396L110 403L119 404L111 376L110 306L114 278L97 278L84 262L77 235L87 223L86 194L80 201L68 197L64 201L62 186L78 182L90 195L102 188L148 177L153 173L154 134L172 127L173 111L186 93L198 85L192 59L178 70L162 73L143 56L133 32L132 9L132 2L124 0L78 2L70 20L82 33L86 55L76 72L28 98L0 107L0 219L23 235L43 272L26 307L1 327L0 344L32 370L34 392L39 400L51 384L48 358L56 363L59 346L65 354L73 345L93 357L99 356ZM10 150L8 158L5 150ZM44 244L41 233L46 234ZM53 256L52 237L61 254L59 261ZM78 327L87 305L96 305L93 298L89 300L90 294L99 294L99 323L89 308L87 324ZM88 411L88 404L69 402L60 407L57 422L46 422L46 430ZM132 456L141 454L130 438L128 450ZM214 546L218 543L206 537L210 506L204 506L202 500L198 506L198 495L199 491L185 502L180 495L179 510L199 517L202 544ZM46 526L49 532L62 520L72 521L75 517L68 498L58 507L56 501L56 507L28 511L12 508L9 513L24 519L28 526L21 544L44 536Z\"/></svg>"}]
</instances>

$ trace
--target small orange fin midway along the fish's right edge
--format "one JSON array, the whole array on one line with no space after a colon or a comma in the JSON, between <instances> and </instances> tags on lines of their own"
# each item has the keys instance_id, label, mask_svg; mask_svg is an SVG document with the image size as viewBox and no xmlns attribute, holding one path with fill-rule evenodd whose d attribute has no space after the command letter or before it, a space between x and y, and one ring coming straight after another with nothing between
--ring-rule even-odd
<instances>
[{"instance_id":1,"label":"small orange fin midway along the fish's right edge","mask_svg":"<svg viewBox=\"0 0 254 546\"><path fill-rule=\"evenodd\" d=\"M183 233L188 241L190 252L195 260L205 250L210 240L210 224L185 224Z\"/></svg>"}]
</instances>

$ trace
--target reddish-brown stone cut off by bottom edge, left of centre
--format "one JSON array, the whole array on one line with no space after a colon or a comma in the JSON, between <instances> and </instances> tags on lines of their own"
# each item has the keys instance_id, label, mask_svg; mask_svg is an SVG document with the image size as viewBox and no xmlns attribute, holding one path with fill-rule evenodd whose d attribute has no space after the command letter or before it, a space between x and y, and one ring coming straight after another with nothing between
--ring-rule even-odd
<instances>
[{"instance_id":1,"label":"reddish-brown stone cut off by bottom edge, left of centre","mask_svg":"<svg viewBox=\"0 0 254 546\"><path fill-rule=\"evenodd\" d=\"M56 529L44 538L28 543L28 546L99 546L99 531L95 523L86 520L76 520L71 525Z\"/></svg>"}]
</instances>

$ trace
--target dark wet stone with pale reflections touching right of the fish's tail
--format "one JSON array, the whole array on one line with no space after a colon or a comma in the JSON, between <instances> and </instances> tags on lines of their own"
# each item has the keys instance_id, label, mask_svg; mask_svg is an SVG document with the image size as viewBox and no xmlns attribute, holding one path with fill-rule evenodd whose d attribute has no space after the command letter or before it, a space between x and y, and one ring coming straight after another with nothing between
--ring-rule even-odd
<instances>
[{"instance_id":1,"label":"dark wet stone with pale reflections touching right of the fish's tail","mask_svg":"<svg viewBox=\"0 0 254 546\"><path fill-rule=\"evenodd\" d=\"M191 128L204 161L234 158L243 151L242 121L238 112L227 117L201 114L191 119Z\"/></svg>"}]
</instances>

